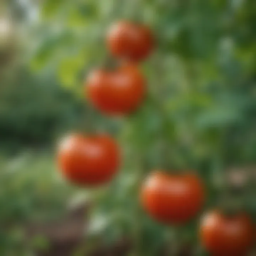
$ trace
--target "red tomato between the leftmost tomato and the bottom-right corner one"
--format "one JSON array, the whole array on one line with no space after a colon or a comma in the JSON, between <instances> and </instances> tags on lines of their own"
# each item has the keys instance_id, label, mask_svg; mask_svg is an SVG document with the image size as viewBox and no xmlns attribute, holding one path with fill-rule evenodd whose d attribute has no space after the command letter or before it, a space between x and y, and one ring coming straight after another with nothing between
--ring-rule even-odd
<instances>
[{"instance_id":1,"label":"red tomato between the leftmost tomato and the bottom-right corner one","mask_svg":"<svg viewBox=\"0 0 256 256\"><path fill-rule=\"evenodd\" d=\"M183 224L201 209L204 189L196 175L156 171L144 181L141 200L145 210L159 222Z\"/></svg>"}]
</instances>

